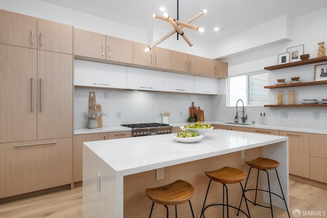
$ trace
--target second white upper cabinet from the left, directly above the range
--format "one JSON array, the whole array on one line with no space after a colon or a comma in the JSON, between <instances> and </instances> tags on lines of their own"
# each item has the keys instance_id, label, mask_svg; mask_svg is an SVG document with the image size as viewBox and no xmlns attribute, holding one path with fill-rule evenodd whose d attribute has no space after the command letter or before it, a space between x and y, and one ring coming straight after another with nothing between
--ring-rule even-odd
<instances>
[{"instance_id":1,"label":"second white upper cabinet from the left, directly above the range","mask_svg":"<svg viewBox=\"0 0 327 218\"><path fill-rule=\"evenodd\" d=\"M164 90L164 72L127 67L127 88L136 90Z\"/></svg>"}]
</instances>

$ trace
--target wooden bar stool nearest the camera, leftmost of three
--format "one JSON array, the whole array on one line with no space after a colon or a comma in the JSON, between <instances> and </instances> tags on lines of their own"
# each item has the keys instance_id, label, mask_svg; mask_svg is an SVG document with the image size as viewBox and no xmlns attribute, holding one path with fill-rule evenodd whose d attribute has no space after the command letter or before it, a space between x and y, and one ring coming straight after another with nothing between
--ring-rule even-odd
<instances>
[{"instance_id":1,"label":"wooden bar stool nearest the camera, leftmost of three","mask_svg":"<svg viewBox=\"0 0 327 218\"><path fill-rule=\"evenodd\" d=\"M162 204L166 207L167 218L169 215L167 205L175 205L175 216L177 218L177 205L185 203L187 201L189 201L190 203L192 216L194 218L192 204L190 201L190 199L194 195L194 187L190 183L183 180L177 180L173 183L161 187L146 188L145 192L147 196L153 201L149 218L151 217L152 214L154 202L158 204Z\"/></svg>"}]
</instances>

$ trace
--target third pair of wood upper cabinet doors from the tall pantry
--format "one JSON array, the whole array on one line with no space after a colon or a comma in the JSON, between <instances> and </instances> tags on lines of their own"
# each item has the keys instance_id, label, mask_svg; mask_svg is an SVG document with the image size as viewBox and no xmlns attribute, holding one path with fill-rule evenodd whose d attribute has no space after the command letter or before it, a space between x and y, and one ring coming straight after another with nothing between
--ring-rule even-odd
<instances>
[{"instance_id":1,"label":"third pair of wood upper cabinet doors from the tall pantry","mask_svg":"<svg viewBox=\"0 0 327 218\"><path fill-rule=\"evenodd\" d=\"M172 70L203 74L203 58L172 51Z\"/></svg>"}]
</instances>

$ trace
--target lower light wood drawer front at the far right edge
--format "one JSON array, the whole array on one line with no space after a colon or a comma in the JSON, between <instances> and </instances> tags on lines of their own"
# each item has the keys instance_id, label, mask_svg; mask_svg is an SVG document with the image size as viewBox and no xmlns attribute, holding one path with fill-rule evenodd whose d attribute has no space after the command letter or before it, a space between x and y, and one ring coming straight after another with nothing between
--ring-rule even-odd
<instances>
[{"instance_id":1,"label":"lower light wood drawer front at the far right edge","mask_svg":"<svg viewBox=\"0 0 327 218\"><path fill-rule=\"evenodd\" d=\"M310 157L310 179L327 183L327 159Z\"/></svg>"}]
</instances>

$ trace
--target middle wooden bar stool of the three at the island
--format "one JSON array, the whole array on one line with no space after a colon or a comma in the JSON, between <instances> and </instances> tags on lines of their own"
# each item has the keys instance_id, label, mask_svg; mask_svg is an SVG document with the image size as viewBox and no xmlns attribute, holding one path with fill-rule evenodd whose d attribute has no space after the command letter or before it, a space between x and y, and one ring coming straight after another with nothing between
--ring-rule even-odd
<instances>
[{"instance_id":1,"label":"middle wooden bar stool of the three at the island","mask_svg":"<svg viewBox=\"0 0 327 218\"><path fill-rule=\"evenodd\" d=\"M226 184L235 184L235 183L240 183L241 188L242 188L242 199L244 197L244 189L243 189L243 185L241 183L241 181L245 178L245 173L243 171L240 171L240 169L237 168L233 168L233 167L229 167L229 166L225 166L221 169L217 169L216 171L211 171L211 172L204 172L206 174L206 176L210 179L209 184L208 184L208 188L206 190L206 194L205 194L205 198L204 198L204 202L203 202L203 207L202 207L202 212L201 212L201 216L204 216L204 211L205 209L207 209L208 207L211 206L215 206L215 205L220 205L223 206L223 216L225 215L225 206L227 207L227 217L229 217L229 207L237 209L239 211L241 211L242 213L244 213L248 218L250 218L250 212L249 212L249 208L247 206L247 203L245 201L246 204L246 208L247 208L247 212L244 212L243 210L240 210L239 208L235 207L235 206L231 206L228 204L228 190L227 190L227 185ZM209 187L212 181L215 182L219 182L223 184L223 203L222 204L211 204L208 205L206 207L204 207L205 205L205 201L206 201L206 197L208 195L208 191L209 191ZM225 189L226 189L226 204L225 204ZM241 201L242 201L241 199Z\"/></svg>"}]
</instances>

